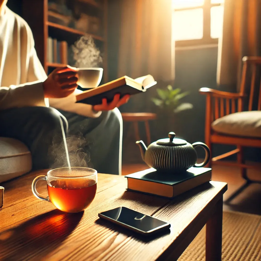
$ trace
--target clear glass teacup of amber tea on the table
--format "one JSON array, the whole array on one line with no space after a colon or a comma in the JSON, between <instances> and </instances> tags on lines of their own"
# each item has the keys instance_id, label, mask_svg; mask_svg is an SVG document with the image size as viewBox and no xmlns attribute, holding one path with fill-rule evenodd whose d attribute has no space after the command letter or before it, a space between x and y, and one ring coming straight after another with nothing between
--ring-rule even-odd
<instances>
[{"instance_id":1,"label":"clear glass teacup of amber tea on the table","mask_svg":"<svg viewBox=\"0 0 261 261\"><path fill-rule=\"evenodd\" d=\"M38 180L47 181L48 196L36 191ZM51 201L64 212L80 212L93 201L97 189L97 171L90 168L66 167L48 171L47 176L37 176L32 183L35 197Z\"/></svg>"}]
</instances>

